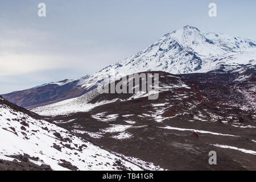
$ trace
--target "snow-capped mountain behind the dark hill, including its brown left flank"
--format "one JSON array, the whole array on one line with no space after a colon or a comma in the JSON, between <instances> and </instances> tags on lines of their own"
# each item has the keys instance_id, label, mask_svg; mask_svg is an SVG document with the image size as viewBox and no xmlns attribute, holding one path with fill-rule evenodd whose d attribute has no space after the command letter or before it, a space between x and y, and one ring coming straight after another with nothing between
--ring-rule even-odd
<instances>
[{"instance_id":1,"label":"snow-capped mountain behind the dark hill, including its brown left flank","mask_svg":"<svg viewBox=\"0 0 256 182\"><path fill-rule=\"evenodd\" d=\"M44 84L5 94L4 97L20 106L32 108L82 96L101 84L104 78L113 75L121 77L146 71L172 74L208 72L220 68L221 64L255 63L256 43L252 40L203 32L196 27L185 26L164 35L136 55L92 75L74 81Z\"/></svg>"}]
</instances>

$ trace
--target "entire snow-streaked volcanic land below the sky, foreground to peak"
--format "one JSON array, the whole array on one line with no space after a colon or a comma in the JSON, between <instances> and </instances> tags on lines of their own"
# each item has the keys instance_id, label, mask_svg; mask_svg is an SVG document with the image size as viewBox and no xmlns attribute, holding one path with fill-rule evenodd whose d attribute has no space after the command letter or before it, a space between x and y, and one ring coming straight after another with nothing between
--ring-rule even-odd
<instances>
[{"instance_id":1,"label":"entire snow-streaked volcanic land below the sky, foreground to peak","mask_svg":"<svg viewBox=\"0 0 256 182\"><path fill-rule=\"evenodd\" d=\"M256 170L255 63L252 40L185 26L79 80L4 94L0 169ZM133 73L159 76L158 99L135 82L99 92Z\"/></svg>"}]
</instances>

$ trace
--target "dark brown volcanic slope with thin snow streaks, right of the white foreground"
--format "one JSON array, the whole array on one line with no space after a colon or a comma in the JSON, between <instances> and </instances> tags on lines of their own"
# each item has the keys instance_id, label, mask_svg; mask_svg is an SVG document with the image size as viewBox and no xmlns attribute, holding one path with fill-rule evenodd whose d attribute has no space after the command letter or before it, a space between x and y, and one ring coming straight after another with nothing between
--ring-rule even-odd
<instances>
[{"instance_id":1,"label":"dark brown volcanic slope with thin snow streaks, right of the white foreground","mask_svg":"<svg viewBox=\"0 0 256 182\"><path fill-rule=\"evenodd\" d=\"M93 94L87 104L105 104L65 115L55 113L61 105L35 111L55 115L48 121L81 138L165 169L255 170L255 67L234 67L178 76L158 72L158 100ZM217 165L208 163L210 151L217 152Z\"/></svg>"}]
</instances>

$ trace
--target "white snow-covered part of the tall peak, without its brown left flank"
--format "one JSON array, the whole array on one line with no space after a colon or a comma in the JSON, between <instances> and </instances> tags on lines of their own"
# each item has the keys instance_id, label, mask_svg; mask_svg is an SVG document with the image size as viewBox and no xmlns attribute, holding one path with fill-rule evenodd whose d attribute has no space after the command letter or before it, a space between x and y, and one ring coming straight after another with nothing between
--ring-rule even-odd
<instances>
[{"instance_id":1,"label":"white snow-covered part of the tall peak, without its brown left flank","mask_svg":"<svg viewBox=\"0 0 256 182\"><path fill-rule=\"evenodd\" d=\"M136 55L82 79L79 84L88 89L112 75L113 69L117 77L145 71L181 74L212 71L224 63L255 64L255 42L185 26L164 35Z\"/></svg>"}]
</instances>

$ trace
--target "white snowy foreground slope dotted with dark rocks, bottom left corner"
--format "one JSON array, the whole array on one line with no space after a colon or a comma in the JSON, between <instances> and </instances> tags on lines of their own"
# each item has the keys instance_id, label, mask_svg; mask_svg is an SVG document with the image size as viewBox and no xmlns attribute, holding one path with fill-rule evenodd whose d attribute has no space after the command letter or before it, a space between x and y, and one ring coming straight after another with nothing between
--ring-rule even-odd
<instances>
[{"instance_id":1,"label":"white snowy foreground slope dotted with dark rocks, bottom left corner","mask_svg":"<svg viewBox=\"0 0 256 182\"><path fill-rule=\"evenodd\" d=\"M161 169L152 163L106 151L12 106L0 97L0 159L12 161L15 156L28 155L30 162L49 165L53 170Z\"/></svg>"}]
</instances>

